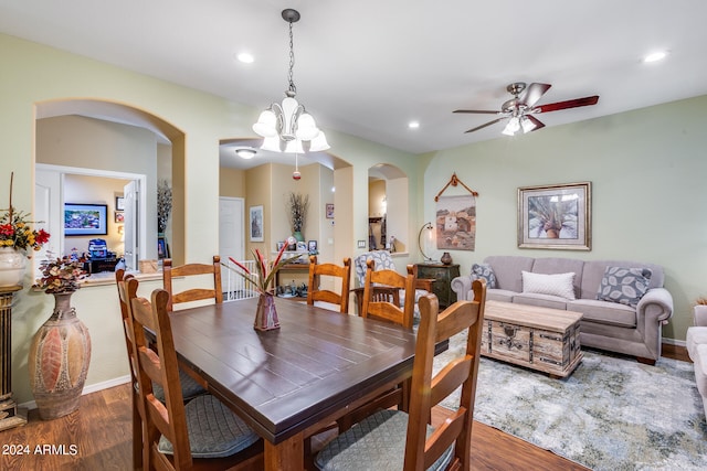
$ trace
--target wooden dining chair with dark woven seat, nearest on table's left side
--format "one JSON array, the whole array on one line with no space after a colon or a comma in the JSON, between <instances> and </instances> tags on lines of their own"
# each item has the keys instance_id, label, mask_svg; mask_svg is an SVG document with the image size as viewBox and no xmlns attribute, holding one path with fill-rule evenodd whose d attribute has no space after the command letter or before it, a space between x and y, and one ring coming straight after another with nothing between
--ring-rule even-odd
<instances>
[{"instance_id":1,"label":"wooden dining chair with dark woven seat, nearest on table's left side","mask_svg":"<svg viewBox=\"0 0 707 471\"><path fill-rule=\"evenodd\" d=\"M147 470L262 469L263 441L210 394L183 402L169 320L169 292L137 297L138 280L125 281L128 324L136 356L138 395L145 413L143 463ZM148 343L146 331L155 335ZM165 392L155 397L152 384Z\"/></svg>"}]
</instances>

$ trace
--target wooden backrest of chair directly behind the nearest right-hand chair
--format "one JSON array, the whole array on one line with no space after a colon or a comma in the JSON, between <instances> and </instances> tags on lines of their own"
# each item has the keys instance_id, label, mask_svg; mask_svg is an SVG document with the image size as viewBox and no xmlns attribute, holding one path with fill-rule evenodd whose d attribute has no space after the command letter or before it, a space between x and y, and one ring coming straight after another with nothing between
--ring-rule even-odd
<instances>
[{"instance_id":1,"label":"wooden backrest of chair directly behind the nearest right-hand chair","mask_svg":"<svg viewBox=\"0 0 707 471\"><path fill-rule=\"evenodd\" d=\"M408 265L408 275L400 275L391 269L376 269L376 261L369 259L366 264L366 279L363 281L363 303L359 315L363 318L381 319L412 329L415 304L415 276L412 265ZM383 292L387 288L393 291L403 290L404 303L400 308L400 296ZM381 292L383 291L383 292ZM378 292L377 296L374 293ZM383 298L383 299L381 299Z\"/></svg>"}]
</instances>

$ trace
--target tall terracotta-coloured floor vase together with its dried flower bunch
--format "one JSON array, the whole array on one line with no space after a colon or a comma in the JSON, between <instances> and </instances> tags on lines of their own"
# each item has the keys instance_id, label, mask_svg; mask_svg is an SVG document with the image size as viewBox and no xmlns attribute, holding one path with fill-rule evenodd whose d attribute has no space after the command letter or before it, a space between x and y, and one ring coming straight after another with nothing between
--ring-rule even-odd
<instances>
[{"instance_id":1,"label":"tall terracotta-coloured floor vase together with its dried flower bunch","mask_svg":"<svg viewBox=\"0 0 707 471\"><path fill-rule=\"evenodd\" d=\"M54 296L54 310L34 334L30 346L30 386L44 420L63 417L78 408L91 362L88 329L71 307L72 295L87 274L70 257L42 261L32 286Z\"/></svg>"}]
</instances>

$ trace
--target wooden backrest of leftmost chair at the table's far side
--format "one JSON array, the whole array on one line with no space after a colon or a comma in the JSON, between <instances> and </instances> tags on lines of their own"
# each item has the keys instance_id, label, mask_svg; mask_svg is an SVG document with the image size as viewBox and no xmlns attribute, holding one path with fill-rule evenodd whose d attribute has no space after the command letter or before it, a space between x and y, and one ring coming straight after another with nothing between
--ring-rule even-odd
<instances>
[{"instance_id":1,"label":"wooden backrest of leftmost chair at the table's far side","mask_svg":"<svg viewBox=\"0 0 707 471\"><path fill-rule=\"evenodd\" d=\"M172 279L175 277L190 277L198 275L212 275L213 288L190 288L184 291L175 292ZM180 302L199 301L202 299L213 299L217 303L223 302L223 289L221 287L221 257L213 256L213 263L187 264L172 267L172 260L166 258L162 261L162 288L170 295L167 309L171 311L173 304Z\"/></svg>"}]
</instances>

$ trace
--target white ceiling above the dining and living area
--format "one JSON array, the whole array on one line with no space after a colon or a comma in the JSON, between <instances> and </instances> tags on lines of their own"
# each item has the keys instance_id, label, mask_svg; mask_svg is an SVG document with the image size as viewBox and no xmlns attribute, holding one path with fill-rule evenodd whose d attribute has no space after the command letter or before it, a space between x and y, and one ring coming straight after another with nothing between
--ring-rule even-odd
<instances>
[{"instance_id":1,"label":"white ceiling above the dining and living area","mask_svg":"<svg viewBox=\"0 0 707 471\"><path fill-rule=\"evenodd\" d=\"M317 124L409 152L519 139L452 114L500 109L511 82L552 84L539 105L600 96L536 115L546 126L707 94L704 0L0 0L0 31L252 105L255 121L287 87L285 8L302 13L294 81ZM655 50L669 55L641 62Z\"/></svg>"}]
</instances>

